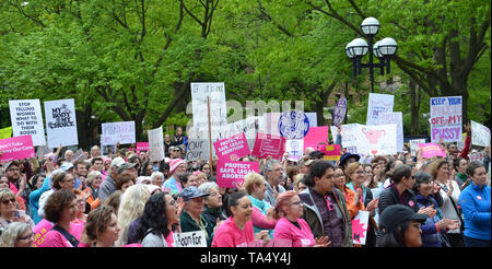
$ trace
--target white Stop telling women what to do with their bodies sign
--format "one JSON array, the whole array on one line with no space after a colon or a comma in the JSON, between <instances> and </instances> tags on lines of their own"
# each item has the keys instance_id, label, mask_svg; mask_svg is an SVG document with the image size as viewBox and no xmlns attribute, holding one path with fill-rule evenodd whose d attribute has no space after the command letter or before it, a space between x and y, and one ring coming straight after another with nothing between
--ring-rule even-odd
<instances>
[{"instance_id":1,"label":"white Stop telling women what to do with their bodies sign","mask_svg":"<svg viewBox=\"0 0 492 269\"><path fill-rule=\"evenodd\" d=\"M9 106L12 136L30 134L33 137L33 145L46 144L39 100L10 100Z\"/></svg>"}]
</instances>

